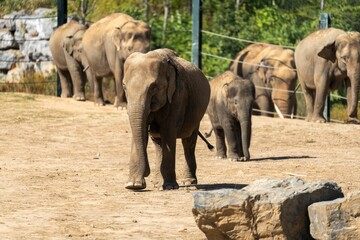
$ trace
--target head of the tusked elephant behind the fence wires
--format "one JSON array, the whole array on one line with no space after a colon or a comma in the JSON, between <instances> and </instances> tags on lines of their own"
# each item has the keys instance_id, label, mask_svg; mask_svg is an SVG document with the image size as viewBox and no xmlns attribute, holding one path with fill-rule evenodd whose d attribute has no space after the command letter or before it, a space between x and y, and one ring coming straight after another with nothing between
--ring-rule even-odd
<instances>
[{"instance_id":1,"label":"head of the tusked elephant behind the fence wires","mask_svg":"<svg viewBox=\"0 0 360 240\"><path fill-rule=\"evenodd\" d=\"M282 50L277 56L263 58L257 69L256 77L262 82L260 86L268 88L271 95L269 97L279 115L295 114L296 96L293 91L296 86L297 74L292 50Z\"/></svg>"}]
</instances>

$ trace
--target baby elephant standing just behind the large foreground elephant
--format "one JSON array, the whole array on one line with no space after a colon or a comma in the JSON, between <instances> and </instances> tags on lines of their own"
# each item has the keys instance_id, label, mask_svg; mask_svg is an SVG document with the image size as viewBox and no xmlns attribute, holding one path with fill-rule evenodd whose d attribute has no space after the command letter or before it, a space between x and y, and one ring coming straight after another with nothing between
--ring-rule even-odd
<instances>
[{"instance_id":1,"label":"baby elephant standing just behind the large foreground elephant","mask_svg":"<svg viewBox=\"0 0 360 240\"><path fill-rule=\"evenodd\" d=\"M226 71L212 79L210 87L207 114L216 136L216 157L228 157L231 161L249 160L254 84Z\"/></svg>"}]
</instances>

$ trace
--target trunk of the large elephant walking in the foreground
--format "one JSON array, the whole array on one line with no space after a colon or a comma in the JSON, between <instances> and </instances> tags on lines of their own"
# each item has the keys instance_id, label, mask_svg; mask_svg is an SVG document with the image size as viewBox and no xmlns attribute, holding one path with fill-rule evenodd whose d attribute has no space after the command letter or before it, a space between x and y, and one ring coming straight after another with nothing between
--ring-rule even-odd
<instances>
[{"instance_id":1,"label":"trunk of the large elephant walking in the foreground","mask_svg":"<svg viewBox=\"0 0 360 240\"><path fill-rule=\"evenodd\" d=\"M130 175L147 177L150 174L148 156L148 111L143 106L128 104L128 115L132 131Z\"/></svg>"}]
</instances>

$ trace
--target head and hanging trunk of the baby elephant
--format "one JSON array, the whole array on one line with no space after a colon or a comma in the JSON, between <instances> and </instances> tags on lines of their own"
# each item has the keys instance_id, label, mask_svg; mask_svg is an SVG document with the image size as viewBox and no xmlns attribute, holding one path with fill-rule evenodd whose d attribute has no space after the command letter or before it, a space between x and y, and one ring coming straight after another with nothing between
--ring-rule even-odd
<instances>
[{"instance_id":1,"label":"head and hanging trunk of the baby elephant","mask_svg":"<svg viewBox=\"0 0 360 240\"><path fill-rule=\"evenodd\" d=\"M229 115L237 119L241 129L241 146L245 161L250 159L249 147L251 140L251 112L255 100L255 86L247 79L236 77L224 84L223 95L225 108Z\"/></svg>"}]
</instances>

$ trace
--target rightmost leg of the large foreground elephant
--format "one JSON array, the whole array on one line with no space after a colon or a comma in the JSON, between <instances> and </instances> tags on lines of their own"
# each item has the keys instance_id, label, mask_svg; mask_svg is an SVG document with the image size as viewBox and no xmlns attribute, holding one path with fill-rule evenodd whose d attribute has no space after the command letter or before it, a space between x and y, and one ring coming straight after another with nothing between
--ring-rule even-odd
<instances>
[{"instance_id":1,"label":"rightmost leg of the large foreground elephant","mask_svg":"<svg viewBox=\"0 0 360 240\"><path fill-rule=\"evenodd\" d=\"M190 137L182 139L184 155L186 159L186 165L184 167L184 175L182 179L182 184L184 186L197 184L196 158L195 158L197 135L198 135L198 128L194 130L194 132Z\"/></svg>"}]
</instances>

